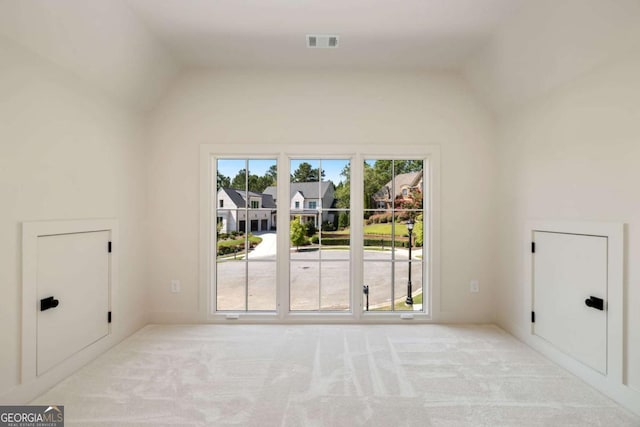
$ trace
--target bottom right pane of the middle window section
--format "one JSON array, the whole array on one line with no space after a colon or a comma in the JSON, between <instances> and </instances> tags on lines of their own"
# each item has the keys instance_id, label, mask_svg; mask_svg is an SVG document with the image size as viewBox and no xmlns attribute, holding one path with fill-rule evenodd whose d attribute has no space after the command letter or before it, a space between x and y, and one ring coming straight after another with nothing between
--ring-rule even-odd
<instances>
[{"instance_id":1,"label":"bottom right pane of the middle window section","mask_svg":"<svg viewBox=\"0 0 640 427\"><path fill-rule=\"evenodd\" d=\"M323 262L321 265L320 309L349 310L350 263Z\"/></svg>"}]
</instances>

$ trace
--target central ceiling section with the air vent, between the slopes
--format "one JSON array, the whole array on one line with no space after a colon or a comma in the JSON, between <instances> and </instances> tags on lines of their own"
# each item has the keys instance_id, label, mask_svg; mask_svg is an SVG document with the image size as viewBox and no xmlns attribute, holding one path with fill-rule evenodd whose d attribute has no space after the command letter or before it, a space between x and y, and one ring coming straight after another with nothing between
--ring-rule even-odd
<instances>
[{"instance_id":1,"label":"central ceiling section with the air vent, between the slopes","mask_svg":"<svg viewBox=\"0 0 640 427\"><path fill-rule=\"evenodd\" d=\"M523 0L127 0L184 64L458 68ZM335 50L305 35L337 34Z\"/></svg>"}]
</instances>

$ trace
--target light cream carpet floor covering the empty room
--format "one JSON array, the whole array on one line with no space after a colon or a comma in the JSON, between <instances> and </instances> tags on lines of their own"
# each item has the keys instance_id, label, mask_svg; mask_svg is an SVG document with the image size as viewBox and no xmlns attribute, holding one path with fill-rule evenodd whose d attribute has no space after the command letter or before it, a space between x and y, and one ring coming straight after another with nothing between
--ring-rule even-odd
<instances>
[{"instance_id":1,"label":"light cream carpet floor covering the empty room","mask_svg":"<svg viewBox=\"0 0 640 427\"><path fill-rule=\"evenodd\" d=\"M495 326L147 326L38 397L78 426L640 426Z\"/></svg>"}]
</instances>

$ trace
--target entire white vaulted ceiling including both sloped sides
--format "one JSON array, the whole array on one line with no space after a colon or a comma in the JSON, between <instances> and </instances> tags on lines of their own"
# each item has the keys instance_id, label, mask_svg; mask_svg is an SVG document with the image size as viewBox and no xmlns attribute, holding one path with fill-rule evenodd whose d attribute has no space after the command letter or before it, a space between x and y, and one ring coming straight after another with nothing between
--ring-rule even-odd
<instances>
[{"instance_id":1,"label":"entire white vaulted ceiling including both sloped sides","mask_svg":"<svg viewBox=\"0 0 640 427\"><path fill-rule=\"evenodd\" d=\"M10 40L136 109L206 67L453 70L504 111L640 50L638 22L638 0L0 0L0 53Z\"/></svg>"}]
</instances>

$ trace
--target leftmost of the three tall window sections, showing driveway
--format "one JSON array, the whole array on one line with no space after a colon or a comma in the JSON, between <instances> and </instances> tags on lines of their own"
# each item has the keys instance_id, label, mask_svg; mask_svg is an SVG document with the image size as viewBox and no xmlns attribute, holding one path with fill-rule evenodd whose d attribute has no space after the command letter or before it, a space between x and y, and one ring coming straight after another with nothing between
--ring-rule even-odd
<instances>
[{"instance_id":1,"label":"leftmost of the three tall window sections, showing driveway","mask_svg":"<svg viewBox=\"0 0 640 427\"><path fill-rule=\"evenodd\" d=\"M275 311L276 160L218 159L216 311ZM214 203L215 205L215 203Z\"/></svg>"}]
</instances>

